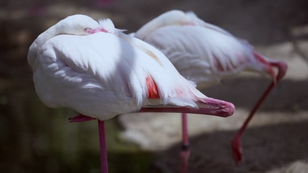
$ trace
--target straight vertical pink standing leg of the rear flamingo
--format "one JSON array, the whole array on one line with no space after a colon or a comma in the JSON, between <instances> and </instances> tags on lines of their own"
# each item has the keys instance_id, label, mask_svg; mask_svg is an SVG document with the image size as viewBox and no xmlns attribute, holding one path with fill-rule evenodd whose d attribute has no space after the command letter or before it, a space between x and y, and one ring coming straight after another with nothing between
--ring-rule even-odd
<instances>
[{"instance_id":1,"label":"straight vertical pink standing leg of the rear flamingo","mask_svg":"<svg viewBox=\"0 0 308 173\"><path fill-rule=\"evenodd\" d=\"M188 158L190 155L187 129L187 114L182 113L182 151L181 156L181 173L186 173L188 170Z\"/></svg>"}]
</instances>

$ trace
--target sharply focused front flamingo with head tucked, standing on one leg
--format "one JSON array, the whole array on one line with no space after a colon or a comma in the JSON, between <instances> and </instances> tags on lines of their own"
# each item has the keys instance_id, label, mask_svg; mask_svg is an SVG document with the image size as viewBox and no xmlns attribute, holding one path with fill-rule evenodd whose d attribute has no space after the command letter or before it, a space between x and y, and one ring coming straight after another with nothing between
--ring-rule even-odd
<instances>
[{"instance_id":1,"label":"sharply focused front flamingo with head tucked, standing on one leg","mask_svg":"<svg viewBox=\"0 0 308 173\"><path fill-rule=\"evenodd\" d=\"M186 112L221 117L235 107L208 98L171 62L110 19L69 16L40 34L28 51L35 92L48 107L80 113L71 122L97 119L101 172L108 171L104 121L130 112Z\"/></svg>"}]
</instances>

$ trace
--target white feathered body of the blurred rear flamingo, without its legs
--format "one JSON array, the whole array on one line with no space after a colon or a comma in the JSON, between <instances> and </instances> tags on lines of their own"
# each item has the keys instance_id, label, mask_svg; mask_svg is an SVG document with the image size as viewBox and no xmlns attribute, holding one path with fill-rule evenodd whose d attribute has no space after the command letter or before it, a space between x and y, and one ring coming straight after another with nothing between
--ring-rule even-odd
<instances>
[{"instance_id":1,"label":"white feathered body of the blurred rear flamingo, without its legs","mask_svg":"<svg viewBox=\"0 0 308 173\"><path fill-rule=\"evenodd\" d=\"M178 24L183 23L183 19L187 22L183 12L177 12L177 17L173 13L172 24L168 24L166 20L171 12L153 19L155 22L149 21L135 36L160 49L180 74L193 78L199 87L217 83L243 70L264 70L264 65L255 60L253 48L247 41L204 22L193 12L184 13L189 19L188 25ZM174 22L176 20L179 22ZM146 31L146 28L150 29Z\"/></svg>"}]
</instances>

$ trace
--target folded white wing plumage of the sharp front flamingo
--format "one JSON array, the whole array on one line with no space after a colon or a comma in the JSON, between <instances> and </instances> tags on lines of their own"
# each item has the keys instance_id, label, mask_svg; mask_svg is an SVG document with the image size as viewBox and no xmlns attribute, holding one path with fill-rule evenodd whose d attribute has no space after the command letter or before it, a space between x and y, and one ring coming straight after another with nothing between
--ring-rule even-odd
<instances>
[{"instance_id":1,"label":"folded white wing plumage of the sharp front flamingo","mask_svg":"<svg viewBox=\"0 0 308 173\"><path fill-rule=\"evenodd\" d=\"M148 76L157 84L159 104L196 107L196 96L205 97L162 53L129 36L58 35L43 45L33 66L35 90L46 105L100 119L149 104ZM177 90L194 94L177 96Z\"/></svg>"}]
</instances>

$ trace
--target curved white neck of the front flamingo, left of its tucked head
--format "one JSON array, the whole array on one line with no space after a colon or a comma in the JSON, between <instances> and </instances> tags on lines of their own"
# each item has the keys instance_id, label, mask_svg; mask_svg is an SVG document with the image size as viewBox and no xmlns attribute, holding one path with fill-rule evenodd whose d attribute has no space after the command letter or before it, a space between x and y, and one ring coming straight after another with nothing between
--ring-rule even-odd
<instances>
[{"instance_id":1,"label":"curved white neck of the front flamingo, left of its tucked head","mask_svg":"<svg viewBox=\"0 0 308 173\"><path fill-rule=\"evenodd\" d=\"M50 27L49 29L47 29L45 32L38 35L38 37L33 41L32 45L29 48L28 57L27 57L28 64L30 65L30 67L32 67L34 64L37 51L40 50L40 48L45 44L45 42L49 40L50 38L61 33L59 28L60 28L59 25L56 24Z\"/></svg>"}]
</instances>

